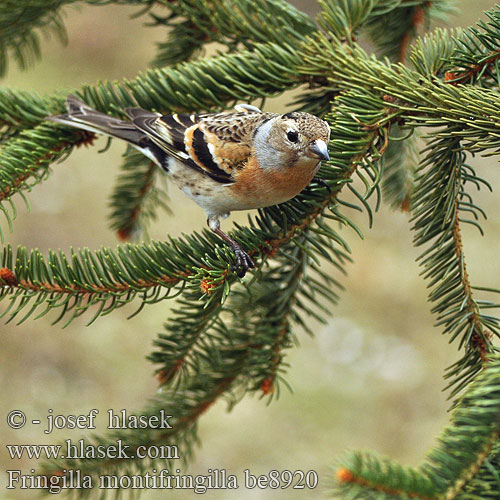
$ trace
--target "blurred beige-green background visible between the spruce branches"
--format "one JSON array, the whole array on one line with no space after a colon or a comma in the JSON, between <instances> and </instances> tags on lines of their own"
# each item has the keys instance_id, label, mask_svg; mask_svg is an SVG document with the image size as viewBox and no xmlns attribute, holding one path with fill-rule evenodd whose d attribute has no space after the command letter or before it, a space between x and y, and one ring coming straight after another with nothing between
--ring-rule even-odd
<instances>
[{"instance_id":1,"label":"blurred beige-green background visible between the spruce branches","mask_svg":"<svg viewBox=\"0 0 500 500\"><path fill-rule=\"evenodd\" d=\"M313 2L294 2L311 9ZM457 1L461 15L450 25L467 26L482 17L492 2ZM136 9L123 6L66 8L69 43L43 43L43 60L27 72L11 66L2 85L52 93L68 92L84 83L132 78L147 68L162 41L161 28L144 27L145 17L130 19ZM269 102L267 110L283 111L292 95ZM50 179L29 195L31 212L19 202L14 246L28 248L115 246L109 230L108 199L124 151L114 142L104 154L100 139L94 147L80 148L62 164L53 166ZM493 186L500 182L495 159L473 160ZM205 226L200 208L175 188L169 190L173 216L162 216L153 225L153 239L178 236ZM498 208L496 195L481 192L476 198L487 213ZM182 209L179 207L182 206ZM286 358L290 364L285 387L278 401L269 406L257 397L246 398L227 413L218 403L200 423L202 446L196 460L183 473L206 474L208 468L227 469L242 477L271 469L309 470L320 475L314 491L246 490L212 491L208 499L324 498L330 466L346 449L372 449L382 455L416 465L433 446L448 421L444 368L457 359L456 346L433 327L426 301L425 283L415 263L407 214L387 207L376 214L368 228L366 214L351 214L365 233L359 239L346 234L354 263L340 304L327 325L314 324L314 338L296 330L300 347ZM245 222L246 214L234 214L224 223ZM484 224L486 236L464 228L465 254L473 283L497 286L500 277L498 247L500 222L492 217ZM42 422L53 409L56 414L87 414L98 408L140 410L155 393L153 367L145 360L152 341L162 330L171 304L149 306L127 320L134 309L119 309L85 326L90 316L75 320L68 328L51 326L50 318L29 320L20 326L2 326L0 352L0 470L23 469L35 463L10 461L5 444L50 444L61 439L84 438L82 431L43 434L36 426L22 431L9 429L4 415L23 410L28 419ZM0 307L6 307L1 303ZM53 318L52 318L53 319ZM104 418L97 431L105 431ZM5 484L2 477L2 485ZM4 486L0 497L6 494ZM36 491L14 490L5 498L33 498ZM144 499L158 498L146 492ZM191 491L169 491L168 498L192 498Z\"/></svg>"}]
</instances>

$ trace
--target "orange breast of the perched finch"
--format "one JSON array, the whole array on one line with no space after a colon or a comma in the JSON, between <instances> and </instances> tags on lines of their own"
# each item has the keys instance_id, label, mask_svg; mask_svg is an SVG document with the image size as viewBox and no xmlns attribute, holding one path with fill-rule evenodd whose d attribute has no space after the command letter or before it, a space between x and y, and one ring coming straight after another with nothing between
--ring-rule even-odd
<instances>
[{"instance_id":1,"label":"orange breast of the perched finch","mask_svg":"<svg viewBox=\"0 0 500 500\"><path fill-rule=\"evenodd\" d=\"M241 169L231 186L234 196L247 202L247 208L283 203L300 193L314 177L318 162L297 164L282 169L263 169L255 157ZM234 174L233 174L234 175Z\"/></svg>"}]
</instances>

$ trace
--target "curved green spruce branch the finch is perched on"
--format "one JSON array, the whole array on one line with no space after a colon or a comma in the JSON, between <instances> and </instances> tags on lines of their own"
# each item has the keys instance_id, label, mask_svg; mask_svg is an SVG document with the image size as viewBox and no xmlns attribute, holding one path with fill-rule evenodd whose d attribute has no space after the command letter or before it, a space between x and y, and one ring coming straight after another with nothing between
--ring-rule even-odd
<instances>
[{"instance_id":1,"label":"curved green spruce branch the finch is perched on","mask_svg":"<svg viewBox=\"0 0 500 500\"><path fill-rule=\"evenodd\" d=\"M337 210L336 197L344 185L349 186L348 181L355 172L363 175L362 170L370 172L376 169L376 162L365 162L366 156L378 160L381 154L377 149L380 148L379 130L360 130L359 125L370 119L376 120L377 115L370 109L368 114L360 110L359 118L351 116L353 103L359 103L361 99L361 94L342 96L336 112L327 117L332 129L338 131L330 145L330 167L322 171L323 178L331 186L330 190L315 187L280 207L266 208L261 211L260 217L251 221L249 227L240 228L233 235L250 249L253 257L275 254L280 247L314 224L325 210L330 210L329 216L334 220L349 224ZM384 142L385 139L382 139ZM373 179L379 177L376 170L369 175ZM352 186L349 188L369 209L364 198L372 188L368 185L366 194L358 193ZM319 230L326 231L326 242L330 239L342 241L335 233L327 232L324 225ZM46 259L39 251L28 251L22 247L13 257L12 248L7 246L3 252L3 267L10 270L16 279L15 283L5 283L1 291L0 297L10 300L10 306L3 314L9 314L12 320L31 305L29 316L45 302L45 309L40 315L62 308L59 319L69 314L71 321L91 306L98 305L95 319L135 297L142 298L145 303L166 298L174 286L181 285L190 277L203 280L210 272L220 278L220 286L226 282L229 286L235 280L228 274L234 256L227 248L220 249L217 243L217 237L205 231L203 236L195 233L184 239L171 239L170 242L125 245L116 251L107 248L94 252L88 249L72 251L70 259L63 252L54 251L50 251ZM161 294L163 288L167 288L165 296Z\"/></svg>"}]
</instances>

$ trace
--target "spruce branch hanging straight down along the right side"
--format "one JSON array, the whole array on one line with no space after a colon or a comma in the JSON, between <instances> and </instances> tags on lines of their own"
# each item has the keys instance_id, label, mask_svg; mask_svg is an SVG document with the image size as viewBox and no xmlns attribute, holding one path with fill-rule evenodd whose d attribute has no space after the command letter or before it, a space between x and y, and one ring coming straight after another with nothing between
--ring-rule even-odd
<instances>
[{"instance_id":1,"label":"spruce branch hanging straight down along the right side","mask_svg":"<svg viewBox=\"0 0 500 500\"><path fill-rule=\"evenodd\" d=\"M453 387L454 396L481 370L493 350L492 335L499 336L500 330L498 319L482 312L495 304L474 299L463 252L461 224L470 222L480 228L477 221L483 216L466 188L479 186L480 180L465 163L460 139L453 130L449 132L429 144L420 166L413 196L413 230L415 245L427 246L419 260L423 276L430 281L429 299L436 303L432 312L438 314L437 325L466 350L447 374L453 377L448 387Z\"/></svg>"}]
</instances>

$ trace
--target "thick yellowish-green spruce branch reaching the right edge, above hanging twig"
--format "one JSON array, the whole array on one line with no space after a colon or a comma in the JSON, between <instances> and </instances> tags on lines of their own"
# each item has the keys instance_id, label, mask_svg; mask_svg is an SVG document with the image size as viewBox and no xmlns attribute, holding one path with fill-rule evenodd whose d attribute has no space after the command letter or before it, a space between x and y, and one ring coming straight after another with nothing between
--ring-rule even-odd
<instances>
[{"instance_id":1,"label":"thick yellowish-green spruce branch reaching the right edge, above hanging twig","mask_svg":"<svg viewBox=\"0 0 500 500\"><path fill-rule=\"evenodd\" d=\"M460 120L467 138L470 135L480 139L480 145L474 147L471 140L464 147L477 152L497 145L496 136L488 135L497 129L499 97L488 89L453 87L432 74L420 74L401 64L381 63L359 46L330 41L323 34L309 38L306 51L307 68L304 66L303 72L311 76L326 75L330 85L342 90L355 88L372 93L375 90L374 100L386 99L385 121L437 127ZM434 54L439 56L437 51Z\"/></svg>"}]
</instances>

